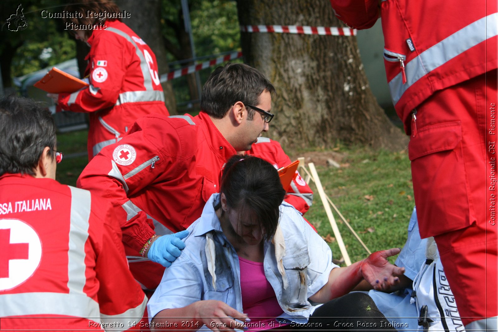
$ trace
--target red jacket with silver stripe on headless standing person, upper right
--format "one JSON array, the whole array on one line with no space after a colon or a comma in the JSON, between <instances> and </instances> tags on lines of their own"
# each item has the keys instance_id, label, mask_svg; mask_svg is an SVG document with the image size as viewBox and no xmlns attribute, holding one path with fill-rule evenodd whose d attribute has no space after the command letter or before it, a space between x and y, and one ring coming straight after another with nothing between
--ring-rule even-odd
<instances>
[{"instance_id":1,"label":"red jacket with silver stripe on headless standing person, upper right","mask_svg":"<svg viewBox=\"0 0 498 332\"><path fill-rule=\"evenodd\" d=\"M373 26L380 13L387 82L408 134L412 110L435 91L498 68L496 1L331 3L336 16L357 29Z\"/></svg>"}]
</instances>

